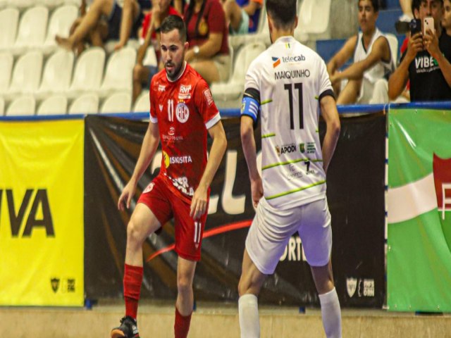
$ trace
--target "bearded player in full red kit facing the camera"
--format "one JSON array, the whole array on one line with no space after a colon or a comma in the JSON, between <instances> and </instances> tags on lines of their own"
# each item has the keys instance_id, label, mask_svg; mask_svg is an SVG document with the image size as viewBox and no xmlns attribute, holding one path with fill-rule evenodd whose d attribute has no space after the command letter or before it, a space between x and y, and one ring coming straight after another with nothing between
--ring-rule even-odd
<instances>
[{"instance_id":1,"label":"bearded player in full red kit facing the camera","mask_svg":"<svg viewBox=\"0 0 451 338\"><path fill-rule=\"evenodd\" d=\"M130 182L118 201L130 207L137 182L152 160L161 140L163 158L159 175L138 200L127 227L125 253L125 317L111 337L139 337L137 304L142 283L142 244L164 223L174 218L178 253L175 303L175 337L187 337L193 308L192 280L200 259L202 233L209 204L209 185L226 151L221 117L204 79L188 65L186 27L177 15L161 24L161 57L164 70L152 78L150 122L140 157ZM206 134L213 139L206 160Z\"/></svg>"}]
</instances>

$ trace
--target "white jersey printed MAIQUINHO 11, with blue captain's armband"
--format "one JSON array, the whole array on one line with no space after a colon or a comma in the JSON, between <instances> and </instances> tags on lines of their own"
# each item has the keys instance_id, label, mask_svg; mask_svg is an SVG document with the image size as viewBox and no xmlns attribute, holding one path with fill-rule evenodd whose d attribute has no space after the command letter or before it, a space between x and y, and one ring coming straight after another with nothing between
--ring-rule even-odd
<instances>
[{"instance_id":1,"label":"white jersey printed MAIQUINHO 11, with blue captain's armband","mask_svg":"<svg viewBox=\"0 0 451 338\"><path fill-rule=\"evenodd\" d=\"M261 117L264 198L274 208L324 198L326 174L319 142L319 100L333 96L323 59L294 37L280 37L249 66L248 92L259 94L242 115Z\"/></svg>"}]
</instances>

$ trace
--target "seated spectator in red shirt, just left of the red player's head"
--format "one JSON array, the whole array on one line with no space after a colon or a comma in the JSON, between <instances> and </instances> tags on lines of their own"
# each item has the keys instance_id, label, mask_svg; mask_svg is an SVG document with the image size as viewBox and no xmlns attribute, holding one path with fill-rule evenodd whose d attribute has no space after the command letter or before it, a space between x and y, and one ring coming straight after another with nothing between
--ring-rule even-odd
<instances>
[{"instance_id":1,"label":"seated spectator in red shirt, just left of the red player's head","mask_svg":"<svg viewBox=\"0 0 451 338\"><path fill-rule=\"evenodd\" d=\"M144 43L140 46L137 52L136 65L133 68L133 102L137 99L142 91L142 87L149 88L152 77L163 69L161 63L161 53L159 46L159 35L161 22L168 15L180 15L175 11L173 6L170 6L171 0L153 0L152 12L147 13L142 23L142 37ZM156 60L158 65L144 65L144 56L147 48L152 44L156 53Z\"/></svg>"}]
</instances>

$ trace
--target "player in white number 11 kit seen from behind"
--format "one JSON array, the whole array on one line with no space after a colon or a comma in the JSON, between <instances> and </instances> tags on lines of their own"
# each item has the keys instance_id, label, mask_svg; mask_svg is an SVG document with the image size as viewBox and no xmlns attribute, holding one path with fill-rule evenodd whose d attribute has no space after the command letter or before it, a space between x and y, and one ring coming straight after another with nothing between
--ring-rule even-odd
<instances>
[{"instance_id":1,"label":"player in white number 11 kit seen from behind","mask_svg":"<svg viewBox=\"0 0 451 338\"><path fill-rule=\"evenodd\" d=\"M246 338L259 337L257 296L296 232L319 292L326 336L341 337L326 200L326 171L340 134L340 119L326 64L292 37L297 24L296 2L266 1L273 44L249 66L242 101L242 146L257 206L238 286L241 337ZM323 149L320 112L327 125ZM261 176L253 130L258 118Z\"/></svg>"}]
</instances>

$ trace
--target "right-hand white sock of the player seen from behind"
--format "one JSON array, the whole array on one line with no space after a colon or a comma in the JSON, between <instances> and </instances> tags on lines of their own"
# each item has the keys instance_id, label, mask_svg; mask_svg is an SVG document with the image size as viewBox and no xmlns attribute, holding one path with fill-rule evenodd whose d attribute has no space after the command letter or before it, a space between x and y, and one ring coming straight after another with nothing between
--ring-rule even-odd
<instances>
[{"instance_id":1,"label":"right-hand white sock of the player seen from behind","mask_svg":"<svg viewBox=\"0 0 451 338\"><path fill-rule=\"evenodd\" d=\"M327 338L341 338L340 301L335 287L326 294L319 295L323 327Z\"/></svg>"}]
</instances>

